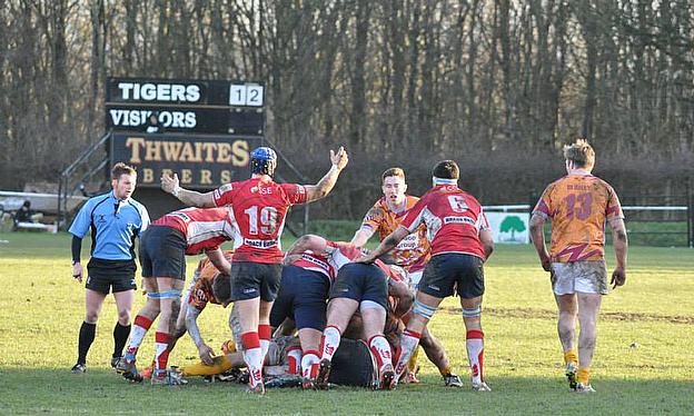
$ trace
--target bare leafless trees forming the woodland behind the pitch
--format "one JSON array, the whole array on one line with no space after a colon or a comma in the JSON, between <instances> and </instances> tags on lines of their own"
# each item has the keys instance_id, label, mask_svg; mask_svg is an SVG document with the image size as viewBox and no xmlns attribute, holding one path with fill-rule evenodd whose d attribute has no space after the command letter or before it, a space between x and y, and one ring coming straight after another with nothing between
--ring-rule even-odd
<instances>
[{"instance_id":1,"label":"bare leafless trees forming the woodland behind the pitch","mask_svg":"<svg viewBox=\"0 0 694 416\"><path fill-rule=\"evenodd\" d=\"M307 177L351 155L314 216L360 217L394 165L420 194L442 158L483 202L525 202L579 135L622 195L694 181L687 0L0 0L0 39L2 189L98 139L108 76L264 81Z\"/></svg>"}]
</instances>

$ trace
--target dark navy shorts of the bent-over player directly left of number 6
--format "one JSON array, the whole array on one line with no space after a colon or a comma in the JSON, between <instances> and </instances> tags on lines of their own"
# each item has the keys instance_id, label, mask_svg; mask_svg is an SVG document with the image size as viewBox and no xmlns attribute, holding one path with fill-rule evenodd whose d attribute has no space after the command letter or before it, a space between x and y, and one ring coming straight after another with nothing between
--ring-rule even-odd
<instances>
[{"instance_id":1,"label":"dark navy shorts of the bent-over player directly left of number 6","mask_svg":"<svg viewBox=\"0 0 694 416\"><path fill-rule=\"evenodd\" d=\"M330 299L370 300L388 309L388 277L375 265L349 263L337 273Z\"/></svg>"}]
</instances>

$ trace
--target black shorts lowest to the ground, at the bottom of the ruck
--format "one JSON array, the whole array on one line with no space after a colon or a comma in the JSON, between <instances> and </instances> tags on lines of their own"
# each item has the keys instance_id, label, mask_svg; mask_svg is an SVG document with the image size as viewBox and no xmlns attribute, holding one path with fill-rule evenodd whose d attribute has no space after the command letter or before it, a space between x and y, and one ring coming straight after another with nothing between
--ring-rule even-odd
<instances>
[{"instance_id":1,"label":"black shorts lowest to the ground, at the bottom of the ruck","mask_svg":"<svg viewBox=\"0 0 694 416\"><path fill-rule=\"evenodd\" d=\"M340 386L370 387L375 375L376 366L366 343L343 338L333 356L328 382Z\"/></svg>"}]
</instances>

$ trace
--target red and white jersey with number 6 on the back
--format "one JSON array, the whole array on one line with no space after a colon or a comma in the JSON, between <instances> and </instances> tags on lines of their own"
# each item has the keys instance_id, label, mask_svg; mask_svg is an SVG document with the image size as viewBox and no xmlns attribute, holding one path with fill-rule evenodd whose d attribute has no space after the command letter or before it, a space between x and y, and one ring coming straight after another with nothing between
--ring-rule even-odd
<instances>
[{"instance_id":1,"label":"red and white jersey with number 6 on the back","mask_svg":"<svg viewBox=\"0 0 694 416\"><path fill-rule=\"evenodd\" d=\"M459 252L486 258L479 231L489 228L487 218L477 199L456 185L432 188L400 225L414 232L423 222L432 242L432 256Z\"/></svg>"}]
</instances>

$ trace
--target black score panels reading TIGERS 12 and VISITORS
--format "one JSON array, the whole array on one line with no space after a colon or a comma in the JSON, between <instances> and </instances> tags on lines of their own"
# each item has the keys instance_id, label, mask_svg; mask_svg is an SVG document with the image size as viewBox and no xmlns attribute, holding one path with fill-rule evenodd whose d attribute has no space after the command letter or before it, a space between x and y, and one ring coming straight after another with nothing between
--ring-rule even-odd
<instances>
[{"instance_id":1,"label":"black score panels reading TIGERS 12 and VISITORS","mask_svg":"<svg viewBox=\"0 0 694 416\"><path fill-rule=\"evenodd\" d=\"M106 127L113 131L262 136L265 87L256 82L109 78Z\"/></svg>"}]
</instances>

